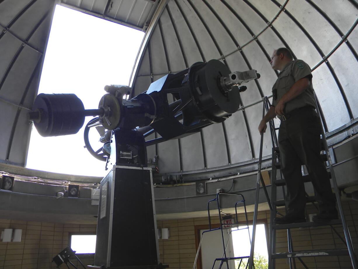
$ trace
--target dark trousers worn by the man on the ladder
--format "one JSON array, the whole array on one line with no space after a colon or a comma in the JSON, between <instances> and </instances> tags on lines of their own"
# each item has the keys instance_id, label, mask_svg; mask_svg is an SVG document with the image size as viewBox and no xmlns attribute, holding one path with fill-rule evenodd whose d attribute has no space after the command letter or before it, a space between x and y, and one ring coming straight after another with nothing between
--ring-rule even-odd
<instances>
[{"instance_id":1,"label":"dark trousers worn by the man on the ladder","mask_svg":"<svg viewBox=\"0 0 358 269\"><path fill-rule=\"evenodd\" d=\"M304 216L306 195L301 165L306 165L319 210L335 209L329 176L320 158L320 118L314 110L293 113L279 129L281 171L286 180L287 214Z\"/></svg>"}]
</instances>

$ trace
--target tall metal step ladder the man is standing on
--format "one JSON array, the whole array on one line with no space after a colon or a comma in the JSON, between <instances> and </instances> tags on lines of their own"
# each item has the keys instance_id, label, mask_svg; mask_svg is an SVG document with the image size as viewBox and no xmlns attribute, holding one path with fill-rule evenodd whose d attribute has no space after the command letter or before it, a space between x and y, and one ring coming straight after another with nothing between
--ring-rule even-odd
<instances>
[{"instance_id":1,"label":"tall metal step ladder the man is standing on","mask_svg":"<svg viewBox=\"0 0 358 269\"><path fill-rule=\"evenodd\" d=\"M270 107L270 102L267 97L264 98L263 103L264 103L264 110L265 110L265 108L266 108L266 110L268 110ZM263 112L263 115L264 115L264 112ZM338 212L339 212L340 219L332 220L332 221L328 221L328 222L324 222L324 223L303 222L303 223L291 223L291 224L281 224L281 225L276 225L274 223L274 218L276 217L276 214L279 214L282 216L282 214L276 210L277 207L285 206L285 200L277 200L277 187L282 187L282 193L285 198L284 186L286 185L285 180L283 179L282 173L280 170L280 168L281 168L280 167L280 152L279 152L277 136L276 136L277 129L279 129L279 128L275 128L274 121L273 120L270 121L270 133L271 133L271 140L272 140L271 202L267 198L267 201L269 203L271 203L271 207L270 207L270 209L271 209L270 237L269 237L269 269L275 268L276 259L289 259L290 269L296 268L296 260L298 260L304 266L304 268L308 268L307 265L303 261L303 258L305 258L305 257L342 256L342 255L349 255L353 268L358 269L357 258L354 253L352 240L351 240L349 230L347 227L347 223L345 221L345 217L343 214L342 203L340 200L340 192L338 190L337 181L335 179L334 169L332 166L332 161L329 156L327 141L326 141L326 138L324 135L322 136L322 139L321 139L321 147L322 147L321 152L323 152L321 154L321 159L322 159L322 161L328 161L328 164L329 164L329 168L330 168L329 176L332 179L333 189L334 189L334 193L335 193L335 196L337 199L337 206L338 206ZM262 155L262 137L263 137L263 135L261 136L260 159L261 159L261 155ZM261 160L259 160L259 162L261 162ZM259 163L258 170L259 170L259 173L258 173L258 178L259 178L259 177L261 177L261 175L260 175L261 174L260 173L261 163ZM279 176L277 176L278 171L279 171ZM261 178L261 180L262 180L262 178ZM311 181L309 175L304 175L303 180L304 180L304 182ZM259 181L259 180L257 180L257 181ZM265 185L264 184L262 184L262 185L264 187L265 193L267 193ZM258 193L258 191L257 191L257 193ZM266 197L267 197L267 195L266 195ZM306 197L307 197L307 203L313 203L313 205L318 209L318 207L314 204L314 202L316 201L315 197L310 197L307 194L306 194ZM258 202L258 199L257 199L257 202ZM256 204L255 204L255 209L256 209ZM257 216L257 213L256 213L256 216ZM254 212L254 223L255 223L255 212ZM340 225L343 227L344 237L345 237L344 239L339 235L339 233L337 232L337 230L334 228L333 225ZM338 237L343 241L343 243L347 246L347 248L346 249L323 249L323 250L294 251L292 237L291 237L291 229L292 228L304 228L304 227L316 227L316 226L330 226L333 229L333 231L338 235ZM276 231L282 230L282 229L287 230L288 251L286 253L276 253ZM254 234L253 234L252 240L254 240ZM252 252L253 252L253 249L252 249ZM251 257L251 255L250 255L250 257ZM250 265L249 265L249 269L251 269L251 268L252 267L250 267Z\"/></svg>"}]
</instances>

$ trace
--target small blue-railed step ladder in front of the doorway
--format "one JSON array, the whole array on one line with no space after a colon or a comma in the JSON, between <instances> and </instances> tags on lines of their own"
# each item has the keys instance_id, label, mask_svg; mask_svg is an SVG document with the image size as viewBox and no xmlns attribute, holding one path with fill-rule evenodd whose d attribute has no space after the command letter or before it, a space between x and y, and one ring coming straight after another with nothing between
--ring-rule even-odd
<instances>
[{"instance_id":1,"label":"small blue-railed step ladder in front of the doorway","mask_svg":"<svg viewBox=\"0 0 358 269\"><path fill-rule=\"evenodd\" d=\"M232 224L228 224L228 223L223 223L223 217L222 217L222 211L221 211L221 208L220 208L220 197L223 197L223 196L227 196L227 195L235 195L237 196L238 198L240 198L236 203L235 203L235 216L234 216L234 223ZM218 208L218 212L219 212L219 227L218 228L212 228L212 223L211 223L211 219L210 219L210 210L209 210L209 206L212 202L216 202L217 203L217 208ZM238 221L238 216L237 216L237 207L238 205L242 204L243 205L243 208L244 208L244 211L245 211L245 223L241 223ZM203 237L205 234L207 234L208 232L212 232L212 231L218 231L218 230L221 230L221 236L222 236L222 245L223 245L223 255L221 258L216 258L213 262L213 266L212 266L212 269L214 269L216 263L219 261L220 264L219 264L219 268L218 269L221 269L222 265L224 263L226 263L226 268L229 269L229 261L230 260L239 260L239 264L238 264L238 268L240 268L241 264L242 264L242 261L247 259L248 261L250 260L250 256L242 256L242 257L228 257L227 256L227 252L226 252L226 249L227 249L227 246L229 244L229 240L231 238L231 233L232 233L232 229L230 227L236 227L237 230L244 230L244 229L247 229L247 232L248 232L248 236L249 236L249 240L250 240L250 244L251 244L251 237L250 237L250 231L249 231L249 226L248 226L248 219L247 219L247 212L246 212L246 204L245 204L245 198L242 194L240 193L217 193L216 195L216 198L212 199L212 200L209 200L208 202L208 219L209 219L209 230L206 230L206 231L203 231L202 232L202 235L200 237L200 241L199 241L199 246L198 246L198 250L197 250L197 254L195 255L195 260L194 260L194 265L193 265L193 269L195 269L195 266L197 265L197 261L198 261L198 256L199 256L199 252L200 252L200 247L202 245L202 241L203 241ZM229 228L224 228L224 226L229 226ZM228 239L227 241L225 242L225 239L224 239L224 230L225 229L229 229L229 236L228 236ZM236 230L235 230L236 231ZM246 268L248 267L249 265L249 262L246 264ZM206 269L206 268L205 268Z\"/></svg>"}]
</instances>

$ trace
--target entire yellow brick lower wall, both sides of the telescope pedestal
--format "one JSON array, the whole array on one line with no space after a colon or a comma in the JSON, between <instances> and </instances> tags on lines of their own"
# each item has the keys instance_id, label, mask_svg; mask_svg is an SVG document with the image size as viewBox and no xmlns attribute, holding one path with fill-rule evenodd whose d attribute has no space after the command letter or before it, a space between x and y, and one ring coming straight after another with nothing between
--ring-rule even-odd
<instances>
[{"instance_id":1,"label":"entire yellow brick lower wall, both sides of the telescope pedestal","mask_svg":"<svg viewBox=\"0 0 358 269\"><path fill-rule=\"evenodd\" d=\"M343 202L344 213L351 232L354 246L357 245L358 202ZM308 213L315 213L313 206L308 206ZM248 213L252 220L253 213ZM258 213L258 219L270 223L270 212ZM245 220L240 215L240 221ZM218 216L212 217L212 223L218 223ZM192 269L196 254L195 228L208 225L207 218L190 218L181 220L158 221L158 228L169 228L169 239L159 240L160 258L170 269ZM343 229L335 226L340 236ZM0 269L55 268L52 258L68 245L70 232L96 232L95 225L74 225L44 222L26 222L0 219L3 228L23 229L21 242L0 242ZM329 226L296 228L291 230L294 250L343 249L345 246ZM287 233L280 230L276 236L276 252L287 252ZM93 256L80 257L86 264L93 263ZM73 260L77 265L76 261ZM308 268L352 268L349 256L330 256L304 258ZM296 261L297 268L304 268ZM64 268L66 266L63 266ZM287 260L276 261L276 269L289 268Z\"/></svg>"}]
</instances>

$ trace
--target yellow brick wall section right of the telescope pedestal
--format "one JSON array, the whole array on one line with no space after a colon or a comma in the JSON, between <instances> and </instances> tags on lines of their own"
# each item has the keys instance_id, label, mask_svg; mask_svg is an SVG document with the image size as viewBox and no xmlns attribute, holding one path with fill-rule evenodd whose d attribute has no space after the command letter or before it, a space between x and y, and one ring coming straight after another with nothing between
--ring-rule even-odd
<instances>
[{"instance_id":1,"label":"yellow brick wall section right of the telescope pedestal","mask_svg":"<svg viewBox=\"0 0 358 269\"><path fill-rule=\"evenodd\" d=\"M356 252L358 251L358 202L353 200L343 202L344 214L351 233L352 241ZM280 209L280 211L283 211ZM307 213L317 213L316 209L308 205ZM248 213L248 220L252 221L253 213ZM270 223L270 211L258 212L258 220ZM212 224L219 223L218 216L211 218ZM245 214L239 215L239 221L245 220ZM159 240L159 252L161 262L168 264L170 269L192 269L196 254L195 249L195 226L208 225L207 218L190 218L183 220L158 221L158 228L169 228L170 237L168 240ZM344 238L343 228L335 225L334 228ZM345 245L330 228L330 226L296 228L291 229L292 244L294 250L324 250L344 249ZM268 240L268 238L267 238ZM220 243L219 243L220 244ZM278 230L276 234L276 253L287 252L287 231ZM352 268L349 256L330 256L304 258L308 268ZM286 259L276 260L276 269L289 268ZM304 266L296 260L296 268Z\"/></svg>"}]
</instances>

